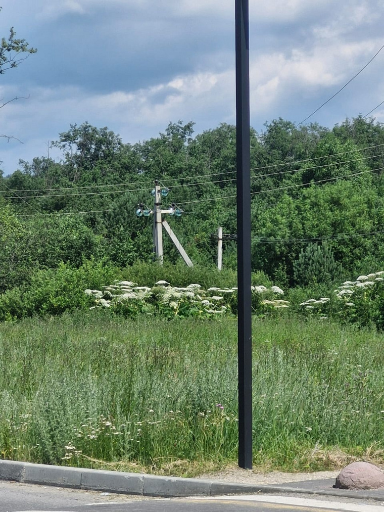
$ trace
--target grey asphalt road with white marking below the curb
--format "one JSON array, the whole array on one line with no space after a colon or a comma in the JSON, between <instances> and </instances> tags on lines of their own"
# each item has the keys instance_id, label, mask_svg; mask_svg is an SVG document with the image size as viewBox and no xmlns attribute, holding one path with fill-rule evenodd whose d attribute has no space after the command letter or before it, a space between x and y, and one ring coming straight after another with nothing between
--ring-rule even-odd
<instances>
[{"instance_id":1,"label":"grey asphalt road with white marking below the curb","mask_svg":"<svg viewBox=\"0 0 384 512\"><path fill-rule=\"evenodd\" d=\"M329 498L329 500L334 498ZM0 481L0 512L384 512L362 500L303 496L156 499Z\"/></svg>"}]
</instances>

